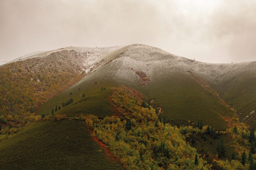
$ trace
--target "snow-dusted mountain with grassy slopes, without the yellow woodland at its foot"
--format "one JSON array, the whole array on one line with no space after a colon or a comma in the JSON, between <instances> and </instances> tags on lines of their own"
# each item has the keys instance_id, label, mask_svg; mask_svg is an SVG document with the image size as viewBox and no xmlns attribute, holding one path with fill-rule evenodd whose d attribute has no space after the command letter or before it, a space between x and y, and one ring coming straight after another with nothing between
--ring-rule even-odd
<instances>
[{"instance_id":1,"label":"snow-dusted mountain with grassy slopes, without the yellow woodland at its foot","mask_svg":"<svg viewBox=\"0 0 256 170\"><path fill-rule=\"evenodd\" d=\"M0 67L2 167L15 162L12 168L120 169L119 162L109 160L107 151L100 151L83 121L75 118L93 114L104 119L115 115L110 96L112 88L120 85L139 91L165 122L177 127L196 127L202 120L204 126L219 131L233 127L237 121L254 128L255 66L256 61L203 63L142 44L31 53ZM65 106L70 99L72 102ZM57 109L59 106L61 109ZM53 120L52 110L67 118ZM38 120L41 115L49 120ZM28 127L19 128L23 126ZM200 146L191 146L202 155L208 151L208 163L216 169L219 166L211 158L216 150L210 149L209 142L201 136L195 135ZM224 133L220 139L226 148L232 145L230 135ZM211 140L217 145L217 139ZM227 149L228 160L233 151L235 147ZM19 158L26 158L27 162ZM83 163L86 159L91 164ZM97 161L104 167L99 167Z\"/></svg>"}]
</instances>

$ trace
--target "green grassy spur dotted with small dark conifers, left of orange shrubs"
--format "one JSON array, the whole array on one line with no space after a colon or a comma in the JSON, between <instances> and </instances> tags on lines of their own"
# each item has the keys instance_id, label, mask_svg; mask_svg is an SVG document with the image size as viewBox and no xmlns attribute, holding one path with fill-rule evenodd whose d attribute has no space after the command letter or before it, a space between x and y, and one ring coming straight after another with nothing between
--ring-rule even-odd
<instances>
[{"instance_id":1,"label":"green grassy spur dotted with small dark conifers, left of orange shrubs","mask_svg":"<svg viewBox=\"0 0 256 170\"><path fill-rule=\"evenodd\" d=\"M111 115L110 103L108 96L111 95L110 83L92 82L89 86L83 84L72 86L65 92L60 93L46 102L38 111L37 114L51 113L52 109L55 109L56 105L61 106L62 102L66 102L70 98L74 99L74 102L68 106L55 112L56 114L66 114L68 117L80 116L81 114L94 114L99 117L105 117ZM80 87L80 91L78 88ZM106 90L101 90L101 87L106 87ZM70 95L69 93L73 94ZM86 97L82 97L82 94L86 94ZM77 102L80 102L77 104Z\"/></svg>"}]
</instances>

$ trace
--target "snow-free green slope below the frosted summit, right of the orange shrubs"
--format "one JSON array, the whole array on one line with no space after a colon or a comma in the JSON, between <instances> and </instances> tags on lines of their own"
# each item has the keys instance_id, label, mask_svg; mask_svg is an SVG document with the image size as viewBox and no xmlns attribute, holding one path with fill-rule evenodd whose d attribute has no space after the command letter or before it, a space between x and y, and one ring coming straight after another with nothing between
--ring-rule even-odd
<instances>
[{"instance_id":1,"label":"snow-free green slope below the frosted summit, right of the orange shrubs","mask_svg":"<svg viewBox=\"0 0 256 170\"><path fill-rule=\"evenodd\" d=\"M156 98L156 103L164 109L167 120L190 120L197 123L202 119L204 125L215 129L226 129L226 123L219 115L232 115L211 93L198 85L192 77L180 76L158 80L158 84L149 84L149 98Z\"/></svg>"}]
</instances>

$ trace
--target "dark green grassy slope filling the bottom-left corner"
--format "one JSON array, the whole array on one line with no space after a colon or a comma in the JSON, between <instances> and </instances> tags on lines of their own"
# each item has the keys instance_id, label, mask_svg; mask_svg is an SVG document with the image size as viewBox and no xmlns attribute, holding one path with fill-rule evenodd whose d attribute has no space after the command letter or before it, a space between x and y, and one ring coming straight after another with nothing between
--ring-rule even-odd
<instances>
[{"instance_id":1,"label":"dark green grassy slope filling the bottom-left corner","mask_svg":"<svg viewBox=\"0 0 256 170\"><path fill-rule=\"evenodd\" d=\"M67 138L68 137L68 138ZM43 121L0 145L1 169L122 169L109 161L82 121Z\"/></svg>"}]
</instances>

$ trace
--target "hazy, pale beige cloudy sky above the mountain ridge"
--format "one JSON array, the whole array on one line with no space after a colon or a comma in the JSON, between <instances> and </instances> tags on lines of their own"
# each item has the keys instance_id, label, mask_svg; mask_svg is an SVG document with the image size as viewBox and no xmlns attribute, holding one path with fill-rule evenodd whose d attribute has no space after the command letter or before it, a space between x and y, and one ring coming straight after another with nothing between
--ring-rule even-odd
<instances>
[{"instance_id":1,"label":"hazy, pale beige cloudy sky above the mountain ridge","mask_svg":"<svg viewBox=\"0 0 256 170\"><path fill-rule=\"evenodd\" d=\"M0 0L0 61L146 44L202 62L256 60L256 1Z\"/></svg>"}]
</instances>

